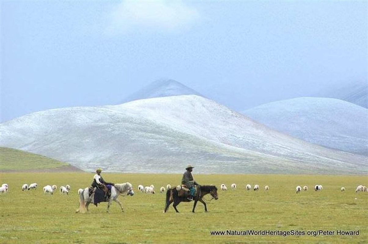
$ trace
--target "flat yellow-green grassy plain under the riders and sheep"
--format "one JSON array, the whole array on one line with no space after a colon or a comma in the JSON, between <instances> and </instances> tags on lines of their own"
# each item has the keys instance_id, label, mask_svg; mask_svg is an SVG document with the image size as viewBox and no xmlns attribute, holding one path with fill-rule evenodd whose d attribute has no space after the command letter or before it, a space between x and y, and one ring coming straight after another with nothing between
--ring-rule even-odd
<instances>
[{"instance_id":1,"label":"flat yellow-green grassy plain under the riders and sheep","mask_svg":"<svg viewBox=\"0 0 368 244\"><path fill-rule=\"evenodd\" d=\"M201 203L192 213L193 203L172 206L164 214L165 194L140 193L138 184L177 185L179 174L103 173L114 183L130 182L134 196L120 196L125 212L113 202L90 205L87 214L76 214L77 190L91 183L92 173L0 173L0 183L9 191L0 195L0 243L368 243L368 193L355 193L358 184L367 185L367 176L323 175L196 175L201 184L224 183L219 200L207 197L209 212ZM38 183L38 189L21 190L24 183ZM231 190L230 184L237 189ZM261 189L246 191L247 183ZM69 195L42 193L47 184L70 184ZM268 191L263 190L269 185ZM315 192L313 186L322 184ZM309 190L295 193L297 185ZM345 192L340 188L344 186ZM59 189L59 188L58 188ZM355 199L357 198L357 199ZM305 232L305 235L211 235L210 231L271 230ZM334 231L313 236L308 232ZM337 230L357 231L359 235L338 235Z\"/></svg>"}]
</instances>

